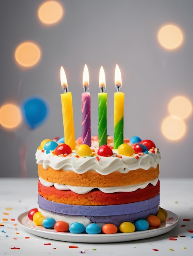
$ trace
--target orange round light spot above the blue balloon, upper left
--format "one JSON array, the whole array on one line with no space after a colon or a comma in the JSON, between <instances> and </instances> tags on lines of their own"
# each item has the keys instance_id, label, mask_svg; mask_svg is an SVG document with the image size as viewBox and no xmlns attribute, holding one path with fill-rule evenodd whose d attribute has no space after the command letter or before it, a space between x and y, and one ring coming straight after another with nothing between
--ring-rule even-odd
<instances>
[{"instance_id":1,"label":"orange round light spot above the blue balloon, upper left","mask_svg":"<svg viewBox=\"0 0 193 256\"><path fill-rule=\"evenodd\" d=\"M15 50L16 62L22 67L33 67L41 58L40 47L31 41L20 43Z\"/></svg>"}]
</instances>

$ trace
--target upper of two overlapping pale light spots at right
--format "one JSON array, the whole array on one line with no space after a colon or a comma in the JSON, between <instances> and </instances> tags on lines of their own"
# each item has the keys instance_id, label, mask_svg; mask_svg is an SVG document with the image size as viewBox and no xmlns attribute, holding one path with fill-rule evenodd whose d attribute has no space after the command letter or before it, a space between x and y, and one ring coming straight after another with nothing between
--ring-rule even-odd
<instances>
[{"instance_id":1,"label":"upper of two overlapping pale light spots at right","mask_svg":"<svg viewBox=\"0 0 193 256\"><path fill-rule=\"evenodd\" d=\"M185 119L192 113L192 103L184 96L176 96L169 102L168 110L171 115Z\"/></svg>"}]
</instances>

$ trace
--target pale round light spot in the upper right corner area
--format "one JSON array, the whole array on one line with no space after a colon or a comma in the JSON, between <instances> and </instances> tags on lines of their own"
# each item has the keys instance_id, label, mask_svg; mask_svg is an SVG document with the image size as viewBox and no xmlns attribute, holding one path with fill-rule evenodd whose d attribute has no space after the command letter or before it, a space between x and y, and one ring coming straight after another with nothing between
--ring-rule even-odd
<instances>
[{"instance_id":1,"label":"pale round light spot in the upper right corner area","mask_svg":"<svg viewBox=\"0 0 193 256\"><path fill-rule=\"evenodd\" d=\"M182 30L177 25L167 24L158 31L158 42L165 49L176 49L182 45L183 40Z\"/></svg>"}]
</instances>

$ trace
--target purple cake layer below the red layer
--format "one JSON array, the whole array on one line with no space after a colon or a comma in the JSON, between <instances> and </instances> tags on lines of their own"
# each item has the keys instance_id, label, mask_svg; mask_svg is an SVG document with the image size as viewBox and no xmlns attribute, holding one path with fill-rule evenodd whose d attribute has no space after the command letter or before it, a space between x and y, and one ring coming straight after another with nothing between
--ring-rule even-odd
<instances>
[{"instance_id":1,"label":"purple cake layer below the red layer","mask_svg":"<svg viewBox=\"0 0 193 256\"><path fill-rule=\"evenodd\" d=\"M72 216L122 216L127 214L140 213L141 211L147 211L157 207L160 203L160 195L154 198L129 203L129 204L118 204L118 205L105 205L105 206L82 206L82 205L71 205L61 204L46 200L42 196L38 195L38 204L44 209L54 213L72 215Z\"/></svg>"}]
</instances>

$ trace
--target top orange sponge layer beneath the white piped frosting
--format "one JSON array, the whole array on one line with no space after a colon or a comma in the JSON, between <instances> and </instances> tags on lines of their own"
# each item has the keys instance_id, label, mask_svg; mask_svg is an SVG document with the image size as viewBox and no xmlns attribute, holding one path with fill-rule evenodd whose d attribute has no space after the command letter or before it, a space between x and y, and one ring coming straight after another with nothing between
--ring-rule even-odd
<instances>
[{"instance_id":1,"label":"top orange sponge layer beneath the white piped frosting","mask_svg":"<svg viewBox=\"0 0 193 256\"><path fill-rule=\"evenodd\" d=\"M159 164L156 168L150 167L148 170L137 169L128 173L115 171L108 175L102 175L96 171L87 171L77 174L74 171L54 170L50 166L45 170L38 164L38 175L43 180L71 185L71 186L91 186L91 187L111 187L127 186L144 183L159 176Z\"/></svg>"}]
</instances>

